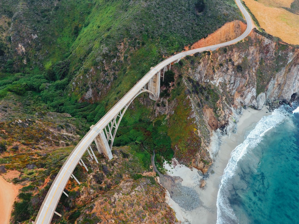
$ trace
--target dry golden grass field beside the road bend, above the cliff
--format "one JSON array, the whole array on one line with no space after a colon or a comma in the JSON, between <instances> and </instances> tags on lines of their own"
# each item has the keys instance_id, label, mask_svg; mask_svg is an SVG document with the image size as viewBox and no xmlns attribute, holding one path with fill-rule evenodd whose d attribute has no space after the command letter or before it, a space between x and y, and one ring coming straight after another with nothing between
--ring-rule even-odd
<instances>
[{"instance_id":1,"label":"dry golden grass field beside the road bend, above the cliff","mask_svg":"<svg viewBox=\"0 0 299 224\"><path fill-rule=\"evenodd\" d=\"M299 44L299 15L289 12L294 0L243 0L267 33L289 44Z\"/></svg>"}]
</instances>

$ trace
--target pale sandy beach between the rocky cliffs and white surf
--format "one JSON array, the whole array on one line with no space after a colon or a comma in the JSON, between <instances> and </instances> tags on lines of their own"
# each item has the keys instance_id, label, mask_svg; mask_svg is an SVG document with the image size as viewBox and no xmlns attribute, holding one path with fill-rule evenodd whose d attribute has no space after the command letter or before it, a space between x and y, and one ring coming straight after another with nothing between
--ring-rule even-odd
<instances>
[{"instance_id":1,"label":"pale sandy beach between the rocky cliffs and white surf","mask_svg":"<svg viewBox=\"0 0 299 224\"><path fill-rule=\"evenodd\" d=\"M219 190L219 184L223 175L223 171L228 164L228 160L231 155L231 151L236 148L237 145L242 143L245 137L251 130L254 129L256 123L260 121L263 116L270 115L267 113L268 108L264 107L262 110L253 110L248 108L243 110L242 116L237 122L237 132L231 134L231 136L222 137L222 144L218 155L216 156L215 162L210 168L206 178L206 185L204 188L199 188L199 181L202 176L199 175L196 169L189 169L184 165L173 165L165 164L165 168L168 170L167 174L170 176L179 176L183 179L181 182L184 186L193 188L198 194L201 200L201 205L192 211L186 211L181 208L176 202L174 202L168 194L167 203L176 212L176 217L182 223L191 224L211 224L217 221L217 194ZM219 142L215 137L212 138L212 147L219 147ZM211 173L213 171L213 174Z\"/></svg>"}]
</instances>

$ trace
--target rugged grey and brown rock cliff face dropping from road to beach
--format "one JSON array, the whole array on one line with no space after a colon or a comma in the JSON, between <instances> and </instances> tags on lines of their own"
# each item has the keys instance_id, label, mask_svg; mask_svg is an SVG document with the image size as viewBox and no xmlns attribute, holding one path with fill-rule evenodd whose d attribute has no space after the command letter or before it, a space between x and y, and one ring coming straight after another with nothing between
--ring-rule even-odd
<instances>
[{"instance_id":1,"label":"rugged grey and brown rock cliff face dropping from road to beach","mask_svg":"<svg viewBox=\"0 0 299 224\"><path fill-rule=\"evenodd\" d=\"M230 134L244 107L262 109L289 103L299 93L299 49L253 31L236 45L187 57L184 82L195 114L203 114L209 134ZM197 121L201 118L197 116ZM199 124L199 122L198 122ZM200 126L200 124L199 124ZM199 137L204 145L210 138ZM210 150L210 156L217 153ZM198 159L195 159L198 160ZM200 164L194 165L202 169Z\"/></svg>"}]
</instances>

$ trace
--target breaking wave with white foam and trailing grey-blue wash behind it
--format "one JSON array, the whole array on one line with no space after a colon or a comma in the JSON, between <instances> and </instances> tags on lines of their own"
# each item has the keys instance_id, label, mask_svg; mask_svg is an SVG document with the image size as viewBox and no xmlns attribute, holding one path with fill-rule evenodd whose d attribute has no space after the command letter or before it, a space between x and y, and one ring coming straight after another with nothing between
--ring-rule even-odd
<instances>
[{"instance_id":1,"label":"breaking wave with white foam and trailing grey-blue wash behind it","mask_svg":"<svg viewBox=\"0 0 299 224\"><path fill-rule=\"evenodd\" d=\"M232 192L236 192L237 189L245 189L247 187L246 182L242 179L242 175L254 172L261 157L259 152L253 152L254 148L263 140L263 136L268 131L283 122L293 111L299 112L299 107L294 110L294 108L291 109L289 106L283 105L275 109L271 115L264 116L244 142L232 151L218 191L217 224L239 223L230 205L229 196ZM241 164L242 167L240 166Z\"/></svg>"}]
</instances>

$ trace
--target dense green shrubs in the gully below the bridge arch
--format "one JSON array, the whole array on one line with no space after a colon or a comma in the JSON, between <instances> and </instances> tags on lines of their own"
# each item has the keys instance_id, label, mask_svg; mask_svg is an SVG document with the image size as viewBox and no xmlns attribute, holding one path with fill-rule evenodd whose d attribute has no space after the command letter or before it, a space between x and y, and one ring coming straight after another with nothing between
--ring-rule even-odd
<instances>
[{"instance_id":1,"label":"dense green shrubs in the gully below the bridge arch","mask_svg":"<svg viewBox=\"0 0 299 224\"><path fill-rule=\"evenodd\" d=\"M145 168L149 168L153 149L157 154L170 160L173 157L173 150L170 137L167 135L165 116L157 119L153 125L149 120L150 111L147 107L137 100L133 107L139 110L129 109L125 113L116 133L114 145L130 145Z\"/></svg>"}]
</instances>

